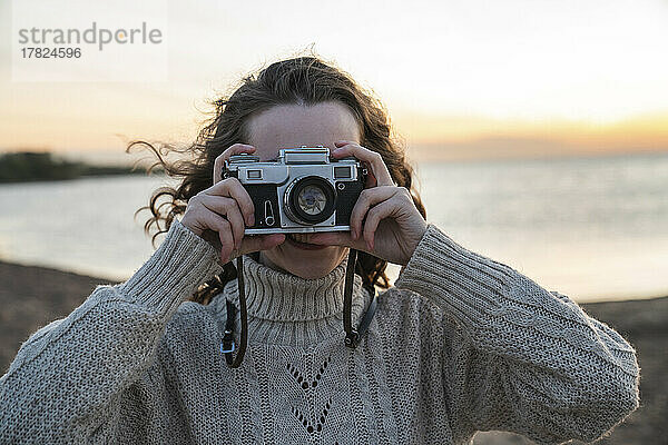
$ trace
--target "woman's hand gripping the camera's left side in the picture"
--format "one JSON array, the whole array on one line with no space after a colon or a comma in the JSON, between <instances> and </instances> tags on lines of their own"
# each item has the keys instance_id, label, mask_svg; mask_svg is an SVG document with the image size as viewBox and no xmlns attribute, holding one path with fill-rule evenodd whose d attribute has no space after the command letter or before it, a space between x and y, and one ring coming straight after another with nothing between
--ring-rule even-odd
<instances>
[{"instance_id":1,"label":"woman's hand gripping the camera's left side in the picture","mask_svg":"<svg viewBox=\"0 0 668 445\"><path fill-rule=\"evenodd\" d=\"M254 152L255 147L235 144L216 158L214 185L188 200L180 222L220 251L220 264L253 251L266 250L285 241L285 235L244 236L253 226L254 205L237 178L220 178L224 162L233 155Z\"/></svg>"}]
</instances>

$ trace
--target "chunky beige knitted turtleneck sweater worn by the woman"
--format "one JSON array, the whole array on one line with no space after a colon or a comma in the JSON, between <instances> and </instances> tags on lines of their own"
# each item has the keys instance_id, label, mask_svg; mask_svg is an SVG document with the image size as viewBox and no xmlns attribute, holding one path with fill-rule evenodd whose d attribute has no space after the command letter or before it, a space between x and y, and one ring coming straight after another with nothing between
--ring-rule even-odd
<instances>
[{"instance_id":1,"label":"chunky beige knitted turtleneck sweater worn by the woman","mask_svg":"<svg viewBox=\"0 0 668 445\"><path fill-rule=\"evenodd\" d=\"M246 257L248 350L228 368L236 280L185 301L220 270L175 220L129 280L22 345L0 378L0 443L459 444L501 429L542 444L593 441L638 407L617 332L433 225L355 349L345 264L305 280ZM360 277L354 289L358 323L370 296Z\"/></svg>"}]
</instances>

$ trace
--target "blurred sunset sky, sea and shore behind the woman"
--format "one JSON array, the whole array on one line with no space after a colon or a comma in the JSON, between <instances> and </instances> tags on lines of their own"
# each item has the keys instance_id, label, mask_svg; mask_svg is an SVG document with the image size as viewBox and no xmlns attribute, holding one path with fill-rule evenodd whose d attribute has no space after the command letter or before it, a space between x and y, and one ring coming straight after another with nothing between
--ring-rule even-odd
<instances>
[{"instance_id":1,"label":"blurred sunset sky, sea and shore behind the woman","mask_svg":"<svg viewBox=\"0 0 668 445\"><path fill-rule=\"evenodd\" d=\"M642 406L602 443L666 437L668 2L158 0L141 20L126 2L117 14L159 23L161 42L122 79L21 65L26 4L0 2L2 369L31 332L154 251L149 214L134 212L176 182L132 170L153 159L128 141L185 146L243 76L316 53L385 105L431 222L638 348ZM85 6L59 4L30 20L90 26ZM119 66L117 50L104 51Z\"/></svg>"}]
</instances>

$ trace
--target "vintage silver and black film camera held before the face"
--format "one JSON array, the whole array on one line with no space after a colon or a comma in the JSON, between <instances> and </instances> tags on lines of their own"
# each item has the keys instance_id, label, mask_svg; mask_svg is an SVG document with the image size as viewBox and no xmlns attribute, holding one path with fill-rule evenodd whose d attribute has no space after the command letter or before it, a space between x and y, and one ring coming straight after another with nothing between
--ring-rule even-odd
<instances>
[{"instance_id":1,"label":"vintage silver and black film camera held before the face","mask_svg":"<svg viewBox=\"0 0 668 445\"><path fill-rule=\"evenodd\" d=\"M331 159L326 147L284 148L278 158L234 155L223 178L237 178L255 206L246 235L350 230L367 171L354 158Z\"/></svg>"}]
</instances>

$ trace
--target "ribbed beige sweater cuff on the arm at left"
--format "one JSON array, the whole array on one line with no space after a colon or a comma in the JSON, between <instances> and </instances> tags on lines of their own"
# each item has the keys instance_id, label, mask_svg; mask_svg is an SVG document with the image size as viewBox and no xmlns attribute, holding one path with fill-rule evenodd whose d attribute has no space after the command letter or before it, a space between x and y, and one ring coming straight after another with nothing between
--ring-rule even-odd
<instances>
[{"instance_id":1,"label":"ribbed beige sweater cuff on the arm at left","mask_svg":"<svg viewBox=\"0 0 668 445\"><path fill-rule=\"evenodd\" d=\"M212 245L175 218L163 244L118 290L131 301L171 314L223 270L218 259Z\"/></svg>"}]
</instances>

